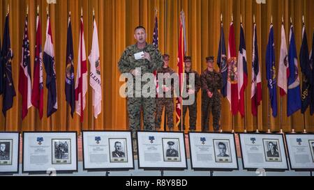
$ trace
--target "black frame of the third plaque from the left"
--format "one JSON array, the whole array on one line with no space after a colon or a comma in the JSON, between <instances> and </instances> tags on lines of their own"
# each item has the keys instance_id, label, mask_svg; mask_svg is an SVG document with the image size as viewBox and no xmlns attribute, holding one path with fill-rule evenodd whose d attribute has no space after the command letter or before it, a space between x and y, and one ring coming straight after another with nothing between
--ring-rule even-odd
<instances>
[{"instance_id":1,"label":"black frame of the third plaque from the left","mask_svg":"<svg viewBox=\"0 0 314 190\"><path fill-rule=\"evenodd\" d=\"M130 148L132 152L132 167L127 167L127 168L87 168L85 166L85 161L84 161L84 132L128 132L130 133ZM110 150L110 148L109 148ZM109 152L110 153L110 152ZM135 169L135 164L134 164L134 155L133 155L133 141L132 141L132 132L129 130L82 130L82 162L83 162L83 171L88 171L88 172L107 172L107 171L130 171Z\"/></svg>"}]
</instances>

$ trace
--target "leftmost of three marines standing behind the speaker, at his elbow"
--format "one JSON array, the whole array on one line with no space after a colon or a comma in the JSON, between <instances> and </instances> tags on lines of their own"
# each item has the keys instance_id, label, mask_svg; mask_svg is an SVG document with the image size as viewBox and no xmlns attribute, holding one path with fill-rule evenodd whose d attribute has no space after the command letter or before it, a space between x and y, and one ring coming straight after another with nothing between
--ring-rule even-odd
<instances>
[{"instance_id":1,"label":"leftmost of three marines standing behind the speaker, at his elbow","mask_svg":"<svg viewBox=\"0 0 314 190\"><path fill-rule=\"evenodd\" d=\"M156 129L160 129L160 122L161 122L161 116L163 115L163 107L165 107L165 115L167 116L167 125L169 127L170 131L173 131L173 112L174 112L174 102L173 102L173 89L174 89L174 81L171 81L171 86L166 86L166 79L170 79L170 76L174 74L174 70L170 68L169 65L169 58L170 56L167 54L163 55L163 68L160 68L157 71L158 74L169 74L169 77L163 78L163 83L159 82L160 90L163 90L163 96L156 98ZM165 75L164 75L165 77ZM160 81L161 79L158 79ZM171 97L166 97L166 92L169 90L171 93Z\"/></svg>"}]
</instances>

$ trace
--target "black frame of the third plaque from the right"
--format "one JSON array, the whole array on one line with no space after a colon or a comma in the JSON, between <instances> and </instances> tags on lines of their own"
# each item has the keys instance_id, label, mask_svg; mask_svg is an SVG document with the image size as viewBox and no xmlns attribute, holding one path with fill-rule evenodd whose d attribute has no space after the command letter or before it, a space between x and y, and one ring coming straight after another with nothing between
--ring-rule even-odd
<instances>
[{"instance_id":1,"label":"black frame of the third plaque from the right","mask_svg":"<svg viewBox=\"0 0 314 190\"><path fill-rule=\"evenodd\" d=\"M237 157L237 145L236 145L236 141L235 141L235 134L231 133L231 132L223 132L223 133L217 133L217 132L189 132L188 133L188 143L189 143L189 147L190 147L190 167L194 170L194 171L239 171L239 163L238 160L236 160L237 162L237 168L197 168L193 166L193 158L192 158L192 150L191 150L191 146L190 146L190 134L232 134L233 136L233 140L234 140L234 151L235 151L235 156Z\"/></svg>"}]
</instances>

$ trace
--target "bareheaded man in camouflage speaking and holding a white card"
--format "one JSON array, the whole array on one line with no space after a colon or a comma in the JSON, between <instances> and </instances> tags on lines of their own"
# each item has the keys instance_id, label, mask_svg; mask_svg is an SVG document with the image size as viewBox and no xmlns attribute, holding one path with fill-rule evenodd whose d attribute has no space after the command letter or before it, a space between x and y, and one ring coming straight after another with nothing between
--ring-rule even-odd
<instances>
[{"instance_id":1,"label":"bareheaded man in camouflage speaking and holding a white card","mask_svg":"<svg viewBox=\"0 0 314 190\"><path fill-rule=\"evenodd\" d=\"M119 60L118 68L120 72L122 74L131 73L134 77L139 77L139 75L142 77L147 73L153 74L154 70L158 70L163 65L163 58L160 52L154 45L147 44L147 33L143 26L136 27L134 38L137 40L137 43L127 47ZM138 58L137 53L141 53L140 58ZM156 102L155 97L143 97L142 95L136 97L135 80L133 82L133 97L128 96L127 99L128 125L132 130L133 139L135 139L136 131L140 129L141 109L143 111L144 129L150 131L155 129ZM141 86L143 87L148 83L149 81L142 81Z\"/></svg>"}]
</instances>

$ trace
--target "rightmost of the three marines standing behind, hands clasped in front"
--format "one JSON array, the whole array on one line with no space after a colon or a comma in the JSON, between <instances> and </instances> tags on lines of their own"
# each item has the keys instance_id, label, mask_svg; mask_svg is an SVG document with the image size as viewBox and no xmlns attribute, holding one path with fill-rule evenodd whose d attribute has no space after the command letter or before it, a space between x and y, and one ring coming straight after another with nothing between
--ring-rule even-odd
<instances>
[{"instance_id":1,"label":"rightmost of the three marines standing behind, hands clasped in front","mask_svg":"<svg viewBox=\"0 0 314 190\"><path fill-rule=\"evenodd\" d=\"M214 131L219 131L221 95L218 90L223 88L223 79L219 72L214 70L214 57L206 58L207 69L201 74L202 81L202 131L209 129L209 113L213 116Z\"/></svg>"}]
</instances>

